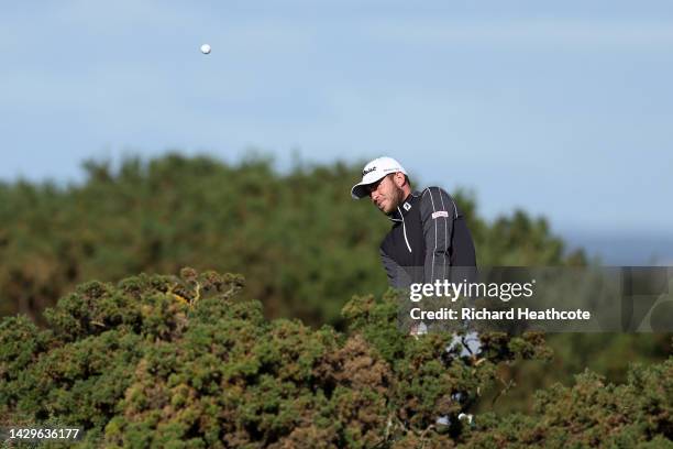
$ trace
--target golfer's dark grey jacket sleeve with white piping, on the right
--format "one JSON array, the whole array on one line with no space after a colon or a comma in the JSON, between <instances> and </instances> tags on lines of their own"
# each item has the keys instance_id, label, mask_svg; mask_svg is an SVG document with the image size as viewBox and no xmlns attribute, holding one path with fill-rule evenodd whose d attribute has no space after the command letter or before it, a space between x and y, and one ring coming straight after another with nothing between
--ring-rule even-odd
<instances>
[{"instance_id":1,"label":"golfer's dark grey jacket sleeve with white piping, on the right","mask_svg":"<svg viewBox=\"0 0 673 449\"><path fill-rule=\"evenodd\" d=\"M424 282L449 278L451 236L459 210L453 199L440 187L428 187L420 201L420 215L426 239Z\"/></svg>"}]
</instances>

